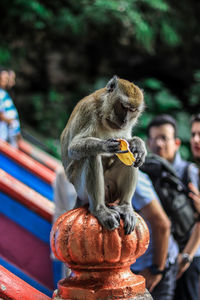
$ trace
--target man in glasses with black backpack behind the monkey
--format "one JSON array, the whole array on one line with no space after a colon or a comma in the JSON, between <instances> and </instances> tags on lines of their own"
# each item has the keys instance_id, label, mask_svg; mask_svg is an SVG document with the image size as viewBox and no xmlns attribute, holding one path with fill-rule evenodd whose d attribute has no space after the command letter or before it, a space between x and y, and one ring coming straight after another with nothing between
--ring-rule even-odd
<instances>
[{"instance_id":1,"label":"man in glasses with black backpack behind the monkey","mask_svg":"<svg viewBox=\"0 0 200 300\"><path fill-rule=\"evenodd\" d=\"M171 219L174 236L177 238L180 247L178 262L180 265L187 264L187 266L189 266L177 281L177 290L174 299L198 300L200 248L198 248L194 257L192 257L194 251L191 247L187 247L187 242L192 238L191 235L194 232L192 231L192 227L195 226L195 222L198 220L198 214L194 210L192 201L190 203L189 197L188 202L186 202L183 196L185 193L189 193L189 190L187 191L187 185L188 182L195 177L196 167L192 164L188 164L188 162L181 158L178 152L181 141L177 137L176 121L170 115L159 115L153 119L147 128L147 135L148 148L153 154L156 154L154 158L158 158L157 164L159 165L159 167L156 166L156 176L151 177L153 173L153 163L151 164L151 172L147 173L154 184L155 190L158 193L168 217ZM164 171L163 164L159 162L159 157L162 162L165 162ZM144 172L147 171L145 170L145 164L144 168L142 168ZM190 178L187 178L188 173L191 173ZM158 179L160 178L162 178L162 180L159 183ZM170 191L174 192L175 188L177 194L174 194L176 197L172 199ZM163 199L161 199L162 197ZM168 201L169 199L171 202ZM168 203L166 204L166 202ZM170 203L171 207L169 205ZM165 207L165 204L167 207ZM180 223L178 221L182 222L181 225L179 225ZM189 227L187 227L188 224ZM186 239L184 239L184 236ZM190 249L190 253L184 252L185 249Z\"/></svg>"}]
</instances>

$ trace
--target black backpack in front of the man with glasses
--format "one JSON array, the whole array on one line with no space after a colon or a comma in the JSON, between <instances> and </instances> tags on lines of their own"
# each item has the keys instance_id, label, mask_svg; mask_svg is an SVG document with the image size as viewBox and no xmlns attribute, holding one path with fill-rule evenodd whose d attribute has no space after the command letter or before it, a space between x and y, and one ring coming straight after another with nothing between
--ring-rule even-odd
<instances>
[{"instance_id":1,"label":"black backpack in front of the man with glasses","mask_svg":"<svg viewBox=\"0 0 200 300\"><path fill-rule=\"evenodd\" d=\"M184 170L184 178L190 163ZM192 200L188 196L188 188L176 175L172 166L158 155L151 154L146 157L145 163L140 167L141 171L148 174L161 204L171 220L172 234L177 241L180 250L187 243L191 229L198 219Z\"/></svg>"}]
</instances>

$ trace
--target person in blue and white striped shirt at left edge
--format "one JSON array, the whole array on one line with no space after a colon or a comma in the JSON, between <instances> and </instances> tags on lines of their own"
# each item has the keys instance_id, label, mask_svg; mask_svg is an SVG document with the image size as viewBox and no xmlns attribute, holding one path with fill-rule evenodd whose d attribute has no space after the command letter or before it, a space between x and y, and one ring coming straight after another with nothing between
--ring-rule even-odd
<instances>
[{"instance_id":1,"label":"person in blue and white striped shirt at left edge","mask_svg":"<svg viewBox=\"0 0 200 300\"><path fill-rule=\"evenodd\" d=\"M0 68L0 138L17 147L20 135L20 122L16 107L6 89L11 87L8 70ZM13 86L13 80L12 80Z\"/></svg>"}]
</instances>

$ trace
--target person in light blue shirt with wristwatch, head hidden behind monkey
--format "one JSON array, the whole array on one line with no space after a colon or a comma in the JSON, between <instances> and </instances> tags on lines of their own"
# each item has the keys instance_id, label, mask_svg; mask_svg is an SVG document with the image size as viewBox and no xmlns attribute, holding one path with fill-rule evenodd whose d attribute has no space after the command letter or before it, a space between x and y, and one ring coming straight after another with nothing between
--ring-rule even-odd
<instances>
[{"instance_id":1,"label":"person in light blue shirt with wristwatch, head hidden behind monkey","mask_svg":"<svg viewBox=\"0 0 200 300\"><path fill-rule=\"evenodd\" d=\"M139 171L132 199L134 209L144 218L150 232L150 244L131 266L146 279L146 287L154 300L171 300L174 296L178 245L170 234L170 221L148 175Z\"/></svg>"}]
</instances>

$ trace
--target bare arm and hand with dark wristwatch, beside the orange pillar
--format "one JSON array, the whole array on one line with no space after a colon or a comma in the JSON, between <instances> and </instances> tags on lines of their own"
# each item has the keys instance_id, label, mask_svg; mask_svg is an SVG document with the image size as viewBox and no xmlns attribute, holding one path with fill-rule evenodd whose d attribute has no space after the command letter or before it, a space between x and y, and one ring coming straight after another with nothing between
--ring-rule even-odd
<instances>
[{"instance_id":1,"label":"bare arm and hand with dark wristwatch, beside the orange pillar","mask_svg":"<svg viewBox=\"0 0 200 300\"><path fill-rule=\"evenodd\" d=\"M151 225L154 246L153 263L159 270L164 270L168 254L168 241L171 223L160 203L156 199L144 206L140 212ZM155 286L162 279L161 274L151 274L149 268L143 270L140 274L145 277L146 286L150 292L153 291Z\"/></svg>"}]
</instances>

